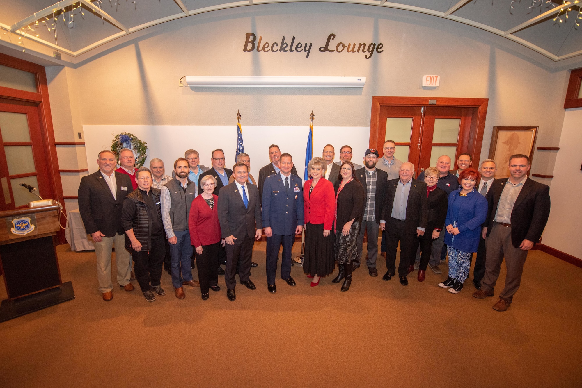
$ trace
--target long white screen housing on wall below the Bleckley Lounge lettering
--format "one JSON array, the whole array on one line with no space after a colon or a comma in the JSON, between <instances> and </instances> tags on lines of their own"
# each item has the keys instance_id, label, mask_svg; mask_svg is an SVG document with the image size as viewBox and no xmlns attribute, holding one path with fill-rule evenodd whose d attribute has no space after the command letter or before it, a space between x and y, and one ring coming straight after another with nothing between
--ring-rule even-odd
<instances>
[{"instance_id":1,"label":"long white screen housing on wall below the Bleckley Lounge lettering","mask_svg":"<svg viewBox=\"0 0 582 388\"><path fill-rule=\"evenodd\" d=\"M363 88L365 77L186 76L189 87Z\"/></svg>"}]
</instances>

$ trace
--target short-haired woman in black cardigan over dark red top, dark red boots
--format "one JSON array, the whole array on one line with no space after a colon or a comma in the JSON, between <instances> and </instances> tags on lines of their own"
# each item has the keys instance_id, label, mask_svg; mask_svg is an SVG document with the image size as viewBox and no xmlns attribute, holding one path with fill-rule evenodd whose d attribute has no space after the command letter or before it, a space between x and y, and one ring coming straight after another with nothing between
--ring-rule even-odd
<instances>
[{"instance_id":1,"label":"short-haired woman in black cardigan over dark red top, dark red boots","mask_svg":"<svg viewBox=\"0 0 582 388\"><path fill-rule=\"evenodd\" d=\"M445 191L437 187L439 171L436 167L428 167L424 171L424 182L427 184L427 201L428 201L428 222L424 235L413 237L412 249L410 250L410 272L414 271L414 260L418 245L420 245L420 265L418 266L419 282L424 281L424 275L427 271L428 260L431 257L432 242L438 239L443 227L445 227L446 210L448 207L448 197Z\"/></svg>"}]
</instances>

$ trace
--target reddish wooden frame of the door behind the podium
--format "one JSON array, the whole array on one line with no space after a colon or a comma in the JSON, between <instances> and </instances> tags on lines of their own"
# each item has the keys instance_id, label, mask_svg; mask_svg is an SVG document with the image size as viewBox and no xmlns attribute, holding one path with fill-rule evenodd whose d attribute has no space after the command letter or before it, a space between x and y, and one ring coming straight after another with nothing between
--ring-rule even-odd
<instances>
[{"instance_id":1,"label":"reddish wooden frame of the door behind the podium","mask_svg":"<svg viewBox=\"0 0 582 388\"><path fill-rule=\"evenodd\" d=\"M61 174L59 173L59 160L56 155L55 132L52 127L51 105L48 98L47 74L40 64L28 62L23 59L0 53L0 64L14 67L15 69L29 71L36 76L37 92L28 92L19 89L0 87L0 100L12 100L23 102L26 105L32 103L38 109L40 120L40 130L42 137L42 149L44 150L44 161L47 164L49 189L52 199L58 200L66 214L65 201L63 200L63 186ZM58 232L60 243L66 243L65 233Z\"/></svg>"}]
</instances>

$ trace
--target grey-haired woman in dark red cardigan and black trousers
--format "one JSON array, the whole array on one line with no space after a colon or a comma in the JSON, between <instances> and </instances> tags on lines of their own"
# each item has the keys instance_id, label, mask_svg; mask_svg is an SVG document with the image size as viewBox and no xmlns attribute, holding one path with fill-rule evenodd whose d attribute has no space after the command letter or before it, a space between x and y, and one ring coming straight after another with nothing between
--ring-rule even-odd
<instances>
[{"instance_id":1,"label":"grey-haired woman in dark red cardigan and black trousers","mask_svg":"<svg viewBox=\"0 0 582 388\"><path fill-rule=\"evenodd\" d=\"M192 201L188 216L190 241L196 249L198 281L202 299L208 299L208 289L219 291L218 286L218 245L224 246L221 238L220 222L218 222L218 196L214 195L217 184L212 175L206 175L200 180L203 192Z\"/></svg>"}]
</instances>

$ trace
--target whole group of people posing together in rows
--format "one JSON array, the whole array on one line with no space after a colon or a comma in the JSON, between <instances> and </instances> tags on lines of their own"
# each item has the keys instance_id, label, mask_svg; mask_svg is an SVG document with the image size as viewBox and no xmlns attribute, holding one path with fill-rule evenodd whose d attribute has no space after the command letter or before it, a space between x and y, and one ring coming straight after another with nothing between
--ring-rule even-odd
<instances>
[{"instance_id":1,"label":"whole group of people posing together in rows","mask_svg":"<svg viewBox=\"0 0 582 388\"><path fill-rule=\"evenodd\" d=\"M321 278L338 274L341 290L352 284L352 272L363 262L370 276L378 276L378 235L389 281L418 270L425 280L427 267L441 274L448 260L448 278L438 285L459 293L477 253L474 297L493 296L503 258L507 275L495 310L505 311L519 289L527 252L540 239L549 216L549 187L528 178L526 155L509 159L509 178L495 179L496 162L484 160L478 170L467 153L457 158L458 169L443 155L435 167L415 167L395 157L396 143L386 141L382 156L367 149L363 166L352 162L350 146L326 145L322 157L307 166L310 179L303 182L289 153L269 147L271 163L261 168L258 181L250 174L250 156L241 153L232 170L225 167L221 149L212 151L211 164L202 166L196 150L187 150L173 164L172 176L164 162L154 158L150 168L135 168L132 150L119 155L99 153L99 170L81 179L79 211L97 256L99 289L104 300L113 298L112 245L116 246L117 281L133 290L134 278L144 297L154 301L165 294L162 265L172 276L175 296L184 299L183 286L200 288L203 300L219 291L218 275L225 276L226 295L236 299L236 275L247 288L254 241L267 239L267 289L275 293L281 254L281 278L296 282L290 271L296 235L304 232L303 271L317 286ZM116 169L117 157L120 167ZM264 231L263 231L264 228ZM196 266L194 265L196 260ZM222 270L221 265L225 265ZM192 268L198 269L198 281ZM133 271L132 271L133 268ZM135 274L135 275L134 275ZM133 276L134 275L134 276Z\"/></svg>"}]
</instances>

